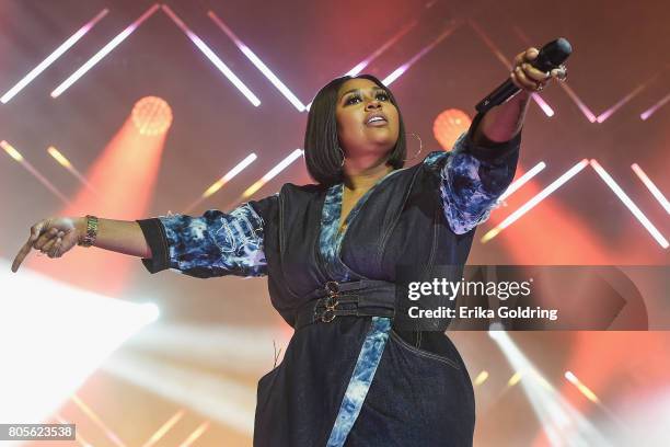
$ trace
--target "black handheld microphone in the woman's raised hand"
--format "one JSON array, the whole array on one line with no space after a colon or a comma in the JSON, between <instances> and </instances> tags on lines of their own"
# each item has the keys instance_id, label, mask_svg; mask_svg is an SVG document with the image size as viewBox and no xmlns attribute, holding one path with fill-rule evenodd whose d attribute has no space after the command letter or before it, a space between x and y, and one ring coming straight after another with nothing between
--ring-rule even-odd
<instances>
[{"instance_id":1,"label":"black handheld microphone in the woman's raised hand","mask_svg":"<svg viewBox=\"0 0 670 447\"><path fill-rule=\"evenodd\" d=\"M558 37L543 46L535 60L530 62L530 65L540 71L548 72L565 62L570 53L573 53L570 43L563 37ZM475 108L477 112L484 113L490 107L503 104L517 94L517 92L519 92L519 88L513 84L511 79L508 79L475 105Z\"/></svg>"}]
</instances>

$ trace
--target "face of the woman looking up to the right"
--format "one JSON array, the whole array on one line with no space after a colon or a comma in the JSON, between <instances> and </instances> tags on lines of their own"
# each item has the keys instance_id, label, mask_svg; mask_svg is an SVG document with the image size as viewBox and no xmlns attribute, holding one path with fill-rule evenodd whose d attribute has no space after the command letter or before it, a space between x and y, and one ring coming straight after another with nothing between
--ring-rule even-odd
<instances>
[{"instance_id":1,"label":"face of the woman looking up to the right","mask_svg":"<svg viewBox=\"0 0 670 447\"><path fill-rule=\"evenodd\" d=\"M347 158L388 157L397 141L400 118L386 91L369 79L349 79L337 92L337 136Z\"/></svg>"}]
</instances>

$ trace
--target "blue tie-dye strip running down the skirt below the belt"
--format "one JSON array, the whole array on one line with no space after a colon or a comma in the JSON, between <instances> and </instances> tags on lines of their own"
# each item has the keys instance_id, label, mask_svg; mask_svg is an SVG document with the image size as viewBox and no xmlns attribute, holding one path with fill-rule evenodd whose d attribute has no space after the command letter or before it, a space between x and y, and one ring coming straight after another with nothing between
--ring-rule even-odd
<instances>
[{"instance_id":1,"label":"blue tie-dye strip running down the skirt below the belt","mask_svg":"<svg viewBox=\"0 0 670 447\"><path fill-rule=\"evenodd\" d=\"M340 447L347 439L368 396L368 390L384 352L386 340L389 340L390 330L391 319L372 317L370 330L366 335L360 354L358 354L358 360L342 400L327 447Z\"/></svg>"}]
</instances>

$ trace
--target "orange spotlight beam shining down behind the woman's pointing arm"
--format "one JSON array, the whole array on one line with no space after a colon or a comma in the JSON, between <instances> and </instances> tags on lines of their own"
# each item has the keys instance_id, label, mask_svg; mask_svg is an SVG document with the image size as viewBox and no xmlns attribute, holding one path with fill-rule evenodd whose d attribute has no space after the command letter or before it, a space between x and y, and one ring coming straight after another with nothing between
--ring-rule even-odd
<instances>
[{"instance_id":1,"label":"orange spotlight beam shining down behind the woman's pointing arm","mask_svg":"<svg viewBox=\"0 0 670 447\"><path fill-rule=\"evenodd\" d=\"M151 100L155 102L155 100ZM138 102L140 104L142 100ZM95 215L107 219L135 220L147 216L165 147L165 118L171 115L160 100L159 115L131 111L112 140L86 169L85 179L97 194L81 187L60 216ZM154 104L157 105L157 104ZM157 118L157 119L154 119ZM139 126L138 126L139 123ZM157 127L158 126L158 127ZM161 134L142 135L141 129L163 129ZM153 134L153 133L151 133ZM61 282L107 296L118 296L126 288L136 260L104 250L72 250L65 262L34 256L26 260L31 268ZM104 278L113 277L114 280Z\"/></svg>"}]
</instances>

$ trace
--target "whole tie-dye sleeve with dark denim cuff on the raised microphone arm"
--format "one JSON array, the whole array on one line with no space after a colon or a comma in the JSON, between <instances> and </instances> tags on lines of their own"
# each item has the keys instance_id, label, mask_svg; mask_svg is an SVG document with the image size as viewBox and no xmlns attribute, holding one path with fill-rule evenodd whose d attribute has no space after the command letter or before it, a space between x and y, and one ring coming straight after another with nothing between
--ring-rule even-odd
<instances>
[{"instance_id":1,"label":"whole tie-dye sleeve with dark denim cuff on the raised microphone arm","mask_svg":"<svg viewBox=\"0 0 670 447\"><path fill-rule=\"evenodd\" d=\"M521 133L510 141L477 146L472 141L477 115L449 152L430 152L424 163L440 176L442 208L450 228L464 234L488 219L498 197L511 183L519 159Z\"/></svg>"}]
</instances>

